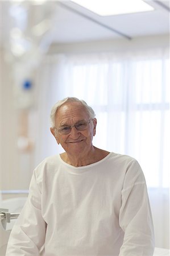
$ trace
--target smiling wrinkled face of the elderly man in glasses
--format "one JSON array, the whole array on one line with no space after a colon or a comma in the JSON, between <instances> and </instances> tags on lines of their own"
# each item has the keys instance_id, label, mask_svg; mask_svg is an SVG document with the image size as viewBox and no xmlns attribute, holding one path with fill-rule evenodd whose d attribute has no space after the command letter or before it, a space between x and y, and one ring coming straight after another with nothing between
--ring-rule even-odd
<instances>
[{"instance_id":1,"label":"smiling wrinkled face of the elderly man in glasses","mask_svg":"<svg viewBox=\"0 0 170 256\"><path fill-rule=\"evenodd\" d=\"M56 113L55 127L59 129L64 126L72 126L80 121L89 121L89 114L80 102L66 102ZM85 130L78 131L72 127L69 134L60 134L51 130L57 143L61 144L64 150L71 155L89 152L92 148L93 136L96 134L96 118L90 121Z\"/></svg>"}]
</instances>

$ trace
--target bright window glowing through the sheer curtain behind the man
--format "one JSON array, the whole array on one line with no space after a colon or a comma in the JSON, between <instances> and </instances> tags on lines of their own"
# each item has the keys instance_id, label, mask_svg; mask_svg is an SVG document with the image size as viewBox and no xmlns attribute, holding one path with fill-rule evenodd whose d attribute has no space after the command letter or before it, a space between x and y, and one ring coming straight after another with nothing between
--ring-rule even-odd
<instances>
[{"instance_id":1,"label":"bright window glowing through the sheer curtain behind the man","mask_svg":"<svg viewBox=\"0 0 170 256\"><path fill-rule=\"evenodd\" d=\"M169 60L72 63L70 94L96 111L94 144L134 156L149 187L169 183Z\"/></svg>"}]
</instances>

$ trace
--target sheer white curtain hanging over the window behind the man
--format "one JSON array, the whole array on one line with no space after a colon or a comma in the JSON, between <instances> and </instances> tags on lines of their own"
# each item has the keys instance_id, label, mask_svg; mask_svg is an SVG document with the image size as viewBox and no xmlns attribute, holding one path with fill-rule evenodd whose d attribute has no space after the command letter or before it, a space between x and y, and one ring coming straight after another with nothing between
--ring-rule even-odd
<instances>
[{"instance_id":1,"label":"sheer white curtain hanging over the window behind the man","mask_svg":"<svg viewBox=\"0 0 170 256\"><path fill-rule=\"evenodd\" d=\"M148 49L123 53L46 56L36 79L36 162L57 154L49 113L57 100L74 96L96 112L94 145L131 155L148 185L157 247L169 246L169 53Z\"/></svg>"}]
</instances>

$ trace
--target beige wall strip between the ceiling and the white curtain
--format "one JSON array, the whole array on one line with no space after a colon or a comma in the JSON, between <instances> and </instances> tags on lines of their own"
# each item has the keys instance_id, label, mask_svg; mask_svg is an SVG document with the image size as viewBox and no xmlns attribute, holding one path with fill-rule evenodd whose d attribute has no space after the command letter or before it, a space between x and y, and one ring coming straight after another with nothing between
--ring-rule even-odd
<instances>
[{"instance_id":1,"label":"beige wall strip between the ceiling and the white curtain","mask_svg":"<svg viewBox=\"0 0 170 256\"><path fill-rule=\"evenodd\" d=\"M127 39L103 40L80 43L56 43L49 48L50 54L56 53L95 53L111 51L135 51L135 49L169 47L169 35L143 36Z\"/></svg>"}]
</instances>

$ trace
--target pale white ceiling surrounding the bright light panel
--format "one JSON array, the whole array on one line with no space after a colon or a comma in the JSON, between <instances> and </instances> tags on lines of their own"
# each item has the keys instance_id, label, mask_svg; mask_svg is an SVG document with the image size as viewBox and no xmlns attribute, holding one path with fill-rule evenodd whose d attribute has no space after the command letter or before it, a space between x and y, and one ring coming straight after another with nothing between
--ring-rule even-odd
<instances>
[{"instance_id":1,"label":"pale white ceiling surrounding the bright light panel","mask_svg":"<svg viewBox=\"0 0 170 256\"><path fill-rule=\"evenodd\" d=\"M146 1L154 7L154 11L115 16L99 16L71 1L50 2L52 9L52 26L51 32L48 33L50 44L111 40L117 38L131 40L138 36L169 34L169 0ZM13 26L9 8L9 1L0 2L1 45L6 43L10 27ZM37 10L38 8L40 8L40 5L32 6L29 11L34 13L34 9ZM31 26L31 23L28 26Z\"/></svg>"}]
</instances>

